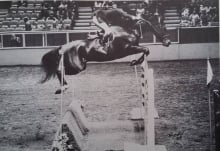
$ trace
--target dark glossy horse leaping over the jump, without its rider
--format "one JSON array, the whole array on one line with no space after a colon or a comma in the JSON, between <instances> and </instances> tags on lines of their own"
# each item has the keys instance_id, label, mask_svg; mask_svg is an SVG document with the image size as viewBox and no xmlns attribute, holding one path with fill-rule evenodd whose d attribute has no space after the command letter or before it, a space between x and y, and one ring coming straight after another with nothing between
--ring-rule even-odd
<instances>
[{"instance_id":1,"label":"dark glossy horse leaping over the jump, without its rider","mask_svg":"<svg viewBox=\"0 0 220 151\"><path fill-rule=\"evenodd\" d=\"M42 58L42 66L46 72L46 77L42 83L49 80L50 77L57 75L59 81L63 81L63 86L67 86L65 79L61 80L61 71L59 70L62 50L64 54L64 70L66 75L75 75L86 69L87 62L96 61L112 61L123 58L129 55L143 53L138 60L133 60L131 65L140 64L144 60L144 55L149 54L149 49L139 46L140 35L149 30L162 41L164 46L170 45L170 40L164 33L162 28L156 28L148 20L141 19L139 21L130 22L129 29L121 26L112 25L112 36L109 44L105 45L103 49L107 54L97 51L101 47L100 38L76 40L60 46L54 50L46 53ZM56 93L60 93L57 90Z\"/></svg>"}]
</instances>

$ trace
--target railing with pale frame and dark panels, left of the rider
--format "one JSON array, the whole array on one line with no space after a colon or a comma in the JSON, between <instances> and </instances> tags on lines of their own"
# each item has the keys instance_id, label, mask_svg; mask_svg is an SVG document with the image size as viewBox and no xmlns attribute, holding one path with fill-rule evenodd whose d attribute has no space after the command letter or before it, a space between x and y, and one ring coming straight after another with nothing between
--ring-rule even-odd
<instances>
[{"instance_id":1,"label":"railing with pale frame and dark panels, left of the rider","mask_svg":"<svg viewBox=\"0 0 220 151\"><path fill-rule=\"evenodd\" d=\"M0 49L59 46L72 40L85 39L87 34L87 31L74 30L2 32L0 33ZM19 42L13 40L13 35L18 37Z\"/></svg>"}]
</instances>

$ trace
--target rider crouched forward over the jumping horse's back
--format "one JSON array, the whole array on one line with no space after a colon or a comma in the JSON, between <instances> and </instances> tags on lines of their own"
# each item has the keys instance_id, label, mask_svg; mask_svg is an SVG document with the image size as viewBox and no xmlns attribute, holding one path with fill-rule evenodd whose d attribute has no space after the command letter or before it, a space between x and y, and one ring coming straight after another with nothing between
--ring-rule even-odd
<instances>
[{"instance_id":1,"label":"rider crouched forward over the jumping horse's back","mask_svg":"<svg viewBox=\"0 0 220 151\"><path fill-rule=\"evenodd\" d=\"M136 19L136 16L127 14L126 12L116 8L96 11L93 16L93 22L102 29L101 32L98 32L99 37L101 37L102 47L99 47L97 51L103 54L107 53L103 48L107 39L111 37L112 32L110 26L116 25L128 29L131 28L133 21Z\"/></svg>"}]
</instances>

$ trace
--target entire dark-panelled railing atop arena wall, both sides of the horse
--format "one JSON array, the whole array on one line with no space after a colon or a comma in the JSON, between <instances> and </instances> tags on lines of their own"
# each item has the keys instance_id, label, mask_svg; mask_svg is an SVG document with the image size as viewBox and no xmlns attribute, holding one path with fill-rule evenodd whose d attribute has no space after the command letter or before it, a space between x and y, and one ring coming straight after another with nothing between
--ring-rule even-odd
<instances>
[{"instance_id":1,"label":"entire dark-panelled railing atop arena wall, both sides of the horse","mask_svg":"<svg viewBox=\"0 0 220 151\"><path fill-rule=\"evenodd\" d=\"M66 30L66 31L17 31L0 33L0 49L12 48L47 48L63 45L69 41L86 39L88 33L95 30ZM219 42L219 27L206 28L174 28L168 34L172 43L209 43ZM12 35L18 37L19 42L12 40ZM151 33L146 32L144 44L160 44L159 40Z\"/></svg>"}]
</instances>

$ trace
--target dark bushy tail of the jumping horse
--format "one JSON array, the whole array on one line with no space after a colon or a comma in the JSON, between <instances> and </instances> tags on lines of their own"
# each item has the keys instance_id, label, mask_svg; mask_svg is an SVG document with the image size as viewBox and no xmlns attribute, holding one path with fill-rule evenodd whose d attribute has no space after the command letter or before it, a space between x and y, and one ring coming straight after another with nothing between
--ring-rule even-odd
<instances>
[{"instance_id":1,"label":"dark bushy tail of the jumping horse","mask_svg":"<svg viewBox=\"0 0 220 151\"><path fill-rule=\"evenodd\" d=\"M60 47L54 50L51 50L42 57L41 65L46 75L40 81L41 83L48 81L52 76L56 75L56 72L59 67L60 57L61 57L59 54L59 49Z\"/></svg>"}]
</instances>

